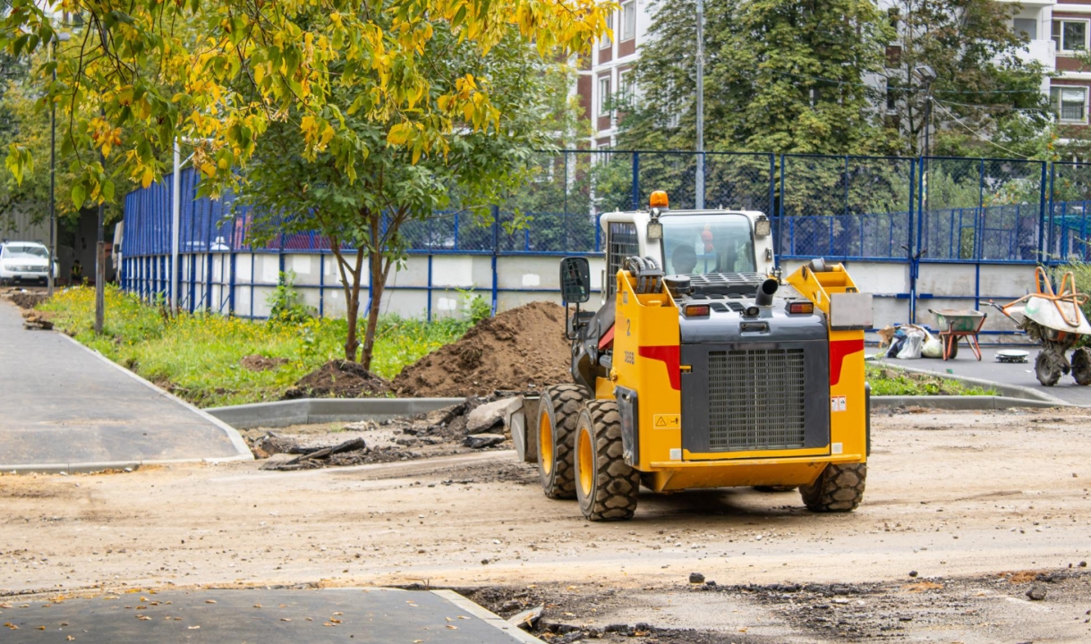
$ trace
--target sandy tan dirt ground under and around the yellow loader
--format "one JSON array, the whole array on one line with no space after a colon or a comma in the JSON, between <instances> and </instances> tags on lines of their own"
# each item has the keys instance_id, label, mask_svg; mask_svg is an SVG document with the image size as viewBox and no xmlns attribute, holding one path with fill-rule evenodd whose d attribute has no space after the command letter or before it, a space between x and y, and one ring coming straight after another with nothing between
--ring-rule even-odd
<instances>
[{"instance_id":1,"label":"sandy tan dirt ground under and around the yellow loader","mask_svg":"<svg viewBox=\"0 0 1091 644\"><path fill-rule=\"evenodd\" d=\"M877 416L864 505L836 515L722 489L645 494L633 521L588 523L511 451L2 476L0 595L418 583L505 616L543 603L554 629L645 622L649 642L1087 642L1089 421Z\"/></svg>"}]
</instances>

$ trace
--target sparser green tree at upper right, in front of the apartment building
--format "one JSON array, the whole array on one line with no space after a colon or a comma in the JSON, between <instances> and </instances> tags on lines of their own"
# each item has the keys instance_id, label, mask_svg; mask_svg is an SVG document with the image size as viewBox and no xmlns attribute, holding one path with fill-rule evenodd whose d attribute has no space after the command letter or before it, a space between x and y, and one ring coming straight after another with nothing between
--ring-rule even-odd
<instances>
[{"instance_id":1,"label":"sparser green tree at upper right, in front of the apartment building","mask_svg":"<svg viewBox=\"0 0 1091 644\"><path fill-rule=\"evenodd\" d=\"M1011 29L1018 11L1018 3L994 0L890 3L887 105L901 134L891 151L927 154L931 121L937 156L1048 158L1044 70L1023 58L1027 40Z\"/></svg>"}]
</instances>

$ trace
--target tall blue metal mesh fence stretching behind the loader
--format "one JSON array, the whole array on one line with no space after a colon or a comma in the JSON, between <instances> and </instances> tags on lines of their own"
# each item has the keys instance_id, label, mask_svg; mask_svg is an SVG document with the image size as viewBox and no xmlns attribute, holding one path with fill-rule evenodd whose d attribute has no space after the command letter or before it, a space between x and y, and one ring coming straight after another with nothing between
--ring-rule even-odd
<instances>
[{"instance_id":1,"label":"tall blue metal mesh fence stretching behind the loader","mask_svg":"<svg viewBox=\"0 0 1091 644\"><path fill-rule=\"evenodd\" d=\"M491 217L436 212L404 224L403 236L410 254L492 256L495 304L496 257L599 254L601 214L640 207L656 190L668 192L672 207L692 208L699 167L706 207L772 217L779 259L903 263L911 293L921 264L1091 259L1091 165L1015 159L562 151L535 159L532 180L487 208ZM121 279L148 299L169 295L171 181L166 177L124 202ZM196 198L197 182L192 169L182 172L180 253L187 275L205 280L200 292L193 278L183 284L179 299L191 308L233 312L233 302L223 292L214 301L213 291L235 285L237 253L329 253L316 232L256 245L254 214L231 195ZM524 226L513 228L516 212Z\"/></svg>"}]
</instances>

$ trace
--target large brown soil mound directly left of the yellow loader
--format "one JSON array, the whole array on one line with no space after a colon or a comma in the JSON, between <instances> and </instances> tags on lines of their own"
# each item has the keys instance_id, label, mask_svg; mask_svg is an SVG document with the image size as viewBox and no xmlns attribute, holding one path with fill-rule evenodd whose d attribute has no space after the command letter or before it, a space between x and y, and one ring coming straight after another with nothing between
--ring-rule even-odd
<instances>
[{"instance_id":1,"label":"large brown soil mound directly left of the yellow loader","mask_svg":"<svg viewBox=\"0 0 1091 644\"><path fill-rule=\"evenodd\" d=\"M531 302L478 323L460 340L407 366L393 388L399 396L488 396L568 382L571 348L564 307Z\"/></svg>"}]
</instances>

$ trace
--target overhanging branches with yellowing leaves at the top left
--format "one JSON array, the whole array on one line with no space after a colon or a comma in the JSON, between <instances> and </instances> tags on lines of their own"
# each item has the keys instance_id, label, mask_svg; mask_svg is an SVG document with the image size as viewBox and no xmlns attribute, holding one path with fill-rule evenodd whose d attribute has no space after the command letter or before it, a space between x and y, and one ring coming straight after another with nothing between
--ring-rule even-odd
<instances>
[{"instance_id":1,"label":"overhanging branches with yellowing leaves at the top left","mask_svg":"<svg viewBox=\"0 0 1091 644\"><path fill-rule=\"evenodd\" d=\"M499 126L485 84L447 78L436 95L424 51L449 31L483 56L511 33L546 56L567 57L606 31L613 5L598 0L5 0L0 49L34 54L53 40L59 15L77 26L56 65L49 99L60 100L65 151L77 155L72 196L112 202L123 175L148 185L179 135L207 143L194 165L205 191L236 181L271 124L291 119L302 155L329 154L350 179L365 157L393 145L410 162L446 155L456 126ZM53 65L45 69L51 72ZM338 88L357 100L329 105ZM348 118L387 125L360 138ZM120 159L115 171L98 155ZM28 148L9 148L16 178Z\"/></svg>"}]
</instances>

